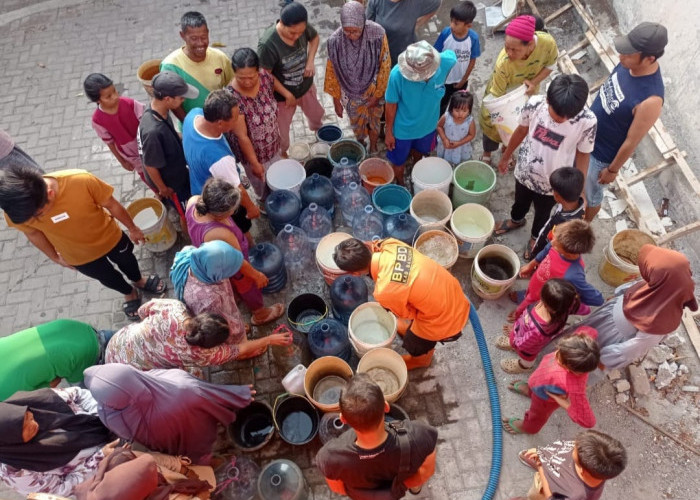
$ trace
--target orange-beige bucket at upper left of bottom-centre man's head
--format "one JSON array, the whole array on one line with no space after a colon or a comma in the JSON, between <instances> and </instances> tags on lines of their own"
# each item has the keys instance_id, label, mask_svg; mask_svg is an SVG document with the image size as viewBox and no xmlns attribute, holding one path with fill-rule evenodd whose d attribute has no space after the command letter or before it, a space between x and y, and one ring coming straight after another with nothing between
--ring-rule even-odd
<instances>
[{"instance_id":1,"label":"orange-beige bucket at upper left of bottom-centre man's head","mask_svg":"<svg viewBox=\"0 0 700 500\"><path fill-rule=\"evenodd\" d=\"M352 368L336 356L318 358L306 369L304 392L323 412L338 411L340 391L352 377Z\"/></svg>"}]
</instances>

